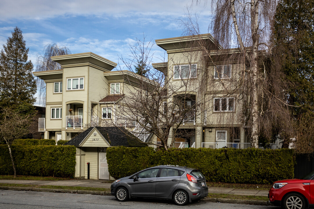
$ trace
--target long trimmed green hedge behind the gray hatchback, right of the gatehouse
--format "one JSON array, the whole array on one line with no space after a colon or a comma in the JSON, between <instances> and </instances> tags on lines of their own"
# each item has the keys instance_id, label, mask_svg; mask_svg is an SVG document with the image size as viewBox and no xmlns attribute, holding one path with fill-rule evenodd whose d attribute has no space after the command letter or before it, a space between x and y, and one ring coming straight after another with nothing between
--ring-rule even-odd
<instances>
[{"instance_id":1,"label":"long trimmed green hedge behind the gray hatchback, right of the gatehouse","mask_svg":"<svg viewBox=\"0 0 314 209\"><path fill-rule=\"evenodd\" d=\"M107 149L109 173L115 179L155 165L196 168L208 181L271 184L293 178L291 149L169 149L111 147Z\"/></svg>"}]
</instances>

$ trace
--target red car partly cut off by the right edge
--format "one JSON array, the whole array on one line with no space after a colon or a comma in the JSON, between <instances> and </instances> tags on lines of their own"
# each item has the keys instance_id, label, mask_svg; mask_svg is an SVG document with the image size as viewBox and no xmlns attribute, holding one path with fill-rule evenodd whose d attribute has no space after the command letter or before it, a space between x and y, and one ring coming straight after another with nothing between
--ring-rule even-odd
<instances>
[{"instance_id":1,"label":"red car partly cut off by the right edge","mask_svg":"<svg viewBox=\"0 0 314 209\"><path fill-rule=\"evenodd\" d=\"M268 198L273 205L286 209L314 207L314 171L300 179L275 181Z\"/></svg>"}]
</instances>

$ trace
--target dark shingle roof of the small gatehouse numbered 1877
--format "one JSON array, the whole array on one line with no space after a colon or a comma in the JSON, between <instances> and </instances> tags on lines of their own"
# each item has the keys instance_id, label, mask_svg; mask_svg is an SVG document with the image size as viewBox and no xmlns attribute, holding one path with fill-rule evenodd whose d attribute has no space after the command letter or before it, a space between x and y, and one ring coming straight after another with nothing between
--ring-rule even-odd
<instances>
[{"instance_id":1,"label":"dark shingle roof of the small gatehouse numbered 1877","mask_svg":"<svg viewBox=\"0 0 314 209\"><path fill-rule=\"evenodd\" d=\"M89 135L94 127L90 127L83 133L74 137L65 145L79 146L82 141ZM99 133L106 139L111 146L126 146L126 147L145 147L146 144L140 142L131 132L123 127L95 127Z\"/></svg>"}]
</instances>

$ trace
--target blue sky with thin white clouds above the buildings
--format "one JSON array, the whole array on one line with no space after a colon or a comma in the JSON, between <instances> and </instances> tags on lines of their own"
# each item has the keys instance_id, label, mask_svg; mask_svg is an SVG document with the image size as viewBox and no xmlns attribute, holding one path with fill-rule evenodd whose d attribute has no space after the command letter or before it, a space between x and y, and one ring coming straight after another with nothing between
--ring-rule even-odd
<instances>
[{"instance_id":1,"label":"blue sky with thin white clouds above the buildings","mask_svg":"<svg viewBox=\"0 0 314 209\"><path fill-rule=\"evenodd\" d=\"M64 45L72 54L93 52L118 63L119 57L127 58L130 54L129 44L134 45L136 38L143 39L144 35L145 40L154 42L181 36L180 19L186 18L191 3L191 0L1 0L0 50L18 26L34 65L37 55L50 43ZM189 12L194 20L197 17L200 33L208 33L211 6L194 3ZM164 55L156 45L152 51L156 57Z\"/></svg>"}]
</instances>

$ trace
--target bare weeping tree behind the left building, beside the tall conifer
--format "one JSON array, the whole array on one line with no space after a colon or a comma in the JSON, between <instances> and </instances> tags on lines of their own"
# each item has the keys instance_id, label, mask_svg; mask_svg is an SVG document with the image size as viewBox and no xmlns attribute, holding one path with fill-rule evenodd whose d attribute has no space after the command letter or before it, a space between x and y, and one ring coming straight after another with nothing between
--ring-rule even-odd
<instances>
[{"instance_id":1,"label":"bare weeping tree behind the left building, beside the tall conifer","mask_svg":"<svg viewBox=\"0 0 314 209\"><path fill-rule=\"evenodd\" d=\"M35 71L52 71L62 69L61 65L51 60L51 56L69 55L71 51L66 46L58 46L57 44L47 44L44 48L44 55L38 55ZM39 103L45 106L46 103L46 83L37 77L37 91Z\"/></svg>"}]
</instances>

